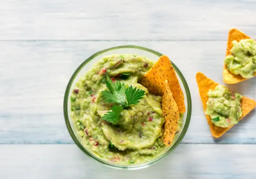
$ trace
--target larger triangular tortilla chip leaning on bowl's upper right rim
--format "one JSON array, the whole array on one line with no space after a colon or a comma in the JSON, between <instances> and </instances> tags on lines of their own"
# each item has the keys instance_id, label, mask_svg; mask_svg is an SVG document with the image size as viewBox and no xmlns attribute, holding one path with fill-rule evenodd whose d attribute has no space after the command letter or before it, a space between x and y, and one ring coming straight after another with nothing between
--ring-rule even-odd
<instances>
[{"instance_id":1,"label":"larger triangular tortilla chip leaning on bowl's upper right rim","mask_svg":"<svg viewBox=\"0 0 256 179\"><path fill-rule=\"evenodd\" d=\"M161 56L153 67L141 78L140 83L154 95L162 96L165 91L165 80L168 80L174 100L178 105L179 112L185 113L184 95L174 67L167 56Z\"/></svg>"}]
</instances>

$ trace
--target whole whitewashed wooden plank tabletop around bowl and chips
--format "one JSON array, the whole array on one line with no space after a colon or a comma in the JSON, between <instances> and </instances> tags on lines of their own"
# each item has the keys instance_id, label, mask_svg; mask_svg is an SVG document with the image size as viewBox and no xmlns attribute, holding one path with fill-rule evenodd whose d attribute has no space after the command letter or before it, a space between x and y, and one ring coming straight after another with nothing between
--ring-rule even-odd
<instances>
[{"instance_id":1,"label":"whole whitewashed wooden plank tabletop around bowl and chips","mask_svg":"<svg viewBox=\"0 0 256 179\"><path fill-rule=\"evenodd\" d=\"M0 178L255 178L256 111L211 137L195 79L222 83L230 28L256 37L256 1L1 1ZM182 143L146 169L116 170L84 155L63 118L77 66L106 48L135 44L168 55L193 101ZM228 85L256 100L256 78Z\"/></svg>"}]
</instances>

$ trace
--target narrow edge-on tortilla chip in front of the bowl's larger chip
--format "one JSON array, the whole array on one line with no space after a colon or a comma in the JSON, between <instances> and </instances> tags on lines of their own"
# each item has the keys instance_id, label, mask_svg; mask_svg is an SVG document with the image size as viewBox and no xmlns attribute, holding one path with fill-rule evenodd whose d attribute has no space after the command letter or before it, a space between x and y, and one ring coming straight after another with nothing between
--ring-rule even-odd
<instances>
[{"instance_id":1,"label":"narrow edge-on tortilla chip in front of the bowl's larger chip","mask_svg":"<svg viewBox=\"0 0 256 179\"><path fill-rule=\"evenodd\" d=\"M165 91L162 97L162 111L165 120L163 143L169 146L174 140L180 114L167 80L164 81L164 85Z\"/></svg>"}]
</instances>

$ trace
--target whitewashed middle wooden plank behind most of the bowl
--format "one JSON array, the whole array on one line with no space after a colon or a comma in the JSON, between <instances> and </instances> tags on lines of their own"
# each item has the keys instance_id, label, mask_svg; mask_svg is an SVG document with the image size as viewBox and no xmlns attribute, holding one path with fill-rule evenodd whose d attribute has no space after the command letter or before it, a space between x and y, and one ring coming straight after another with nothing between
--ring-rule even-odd
<instances>
[{"instance_id":1,"label":"whitewashed middle wooden plank behind most of the bowl","mask_svg":"<svg viewBox=\"0 0 256 179\"><path fill-rule=\"evenodd\" d=\"M256 112L252 111L223 138L211 137L203 113L196 72L222 82L225 41L8 41L0 42L0 144L70 144L62 103L77 66L93 53L122 44L136 44L169 56L185 76L193 101L191 122L183 143L255 144ZM256 78L232 91L256 99Z\"/></svg>"}]
</instances>

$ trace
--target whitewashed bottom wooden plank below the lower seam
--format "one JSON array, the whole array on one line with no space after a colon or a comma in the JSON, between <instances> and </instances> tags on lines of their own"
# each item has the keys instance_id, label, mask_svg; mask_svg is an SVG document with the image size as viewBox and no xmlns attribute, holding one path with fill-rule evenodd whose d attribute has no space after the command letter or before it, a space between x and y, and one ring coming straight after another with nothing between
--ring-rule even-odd
<instances>
[{"instance_id":1,"label":"whitewashed bottom wooden plank below the lower seam","mask_svg":"<svg viewBox=\"0 0 256 179\"><path fill-rule=\"evenodd\" d=\"M255 178L255 160L256 145L181 144L157 164L129 171L103 166L76 145L0 145L0 178Z\"/></svg>"}]
</instances>

